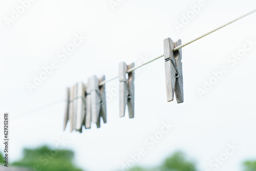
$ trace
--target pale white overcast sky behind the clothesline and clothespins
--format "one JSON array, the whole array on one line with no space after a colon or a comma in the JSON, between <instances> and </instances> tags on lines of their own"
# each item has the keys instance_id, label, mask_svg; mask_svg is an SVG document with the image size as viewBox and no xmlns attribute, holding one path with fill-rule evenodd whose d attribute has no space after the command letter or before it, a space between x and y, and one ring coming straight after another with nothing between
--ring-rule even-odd
<instances>
[{"instance_id":1,"label":"pale white overcast sky behind the clothesline and clothespins","mask_svg":"<svg viewBox=\"0 0 256 171\"><path fill-rule=\"evenodd\" d=\"M209 162L225 153L227 143L239 149L218 170L239 171L244 160L255 160L256 45L234 66L227 59L243 48L246 39L256 41L256 13L182 48L184 103L166 101L161 58L136 71L134 119L127 112L119 118L117 94L108 101L108 123L100 129L93 125L82 134L62 131L65 101L55 102L65 99L67 87L86 83L92 75L115 77L121 61L142 63L145 57L162 55L166 37L189 41L256 5L252 0L205 0L205 7L178 32L174 23L198 3L124 0L113 10L108 0L38 0L8 27L4 17L10 17L20 2L1 1L0 113L10 113L10 161L22 157L24 147L54 147L62 137L69 141L65 148L75 151L76 164L88 170L120 169L140 148L147 149L137 163L142 166L156 166L181 150L197 161L200 170L214 170ZM61 61L57 53L73 42L75 34L87 39ZM27 83L53 60L58 68L31 94ZM228 73L201 98L197 89L223 66ZM107 83L106 92L111 95L117 84L118 80ZM173 129L148 149L144 141L167 121Z\"/></svg>"}]
</instances>

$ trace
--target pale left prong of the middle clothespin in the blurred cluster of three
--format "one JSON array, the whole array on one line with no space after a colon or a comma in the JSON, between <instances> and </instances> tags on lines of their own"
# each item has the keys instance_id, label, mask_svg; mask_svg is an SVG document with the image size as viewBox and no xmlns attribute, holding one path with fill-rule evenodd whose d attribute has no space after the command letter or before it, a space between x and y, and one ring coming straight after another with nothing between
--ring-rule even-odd
<instances>
[{"instance_id":1,"label":"pale left prong of the middle clothespin in the blurred cluster of three","mask_svg":"<svg viewBox=\"0 0 256 171\"><path fill-rule=\"evenodd\" d=\"M86 89L83 82L76 84L76 131L82 131L82 124L86 117Z\"/></svg>"}]
</instances>

